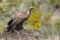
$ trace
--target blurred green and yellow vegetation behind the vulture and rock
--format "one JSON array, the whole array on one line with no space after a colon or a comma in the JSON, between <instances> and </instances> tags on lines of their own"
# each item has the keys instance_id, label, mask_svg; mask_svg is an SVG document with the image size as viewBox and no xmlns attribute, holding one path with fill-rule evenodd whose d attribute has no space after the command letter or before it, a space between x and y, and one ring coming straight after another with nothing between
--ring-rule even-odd
<instances>
[{"instance_id":1,"label":"blurred green and yellow vegetation behind the vulture and rock","mask_svg":"<svg viewBox=\"0 0 60 40\"><path fill-rule=\"evenodd\" d=\"M33 7L24 29L40 30L46 35L60 34L60 0L0 0L0 32L17 11Z\"/></svg>"}]
</instances>

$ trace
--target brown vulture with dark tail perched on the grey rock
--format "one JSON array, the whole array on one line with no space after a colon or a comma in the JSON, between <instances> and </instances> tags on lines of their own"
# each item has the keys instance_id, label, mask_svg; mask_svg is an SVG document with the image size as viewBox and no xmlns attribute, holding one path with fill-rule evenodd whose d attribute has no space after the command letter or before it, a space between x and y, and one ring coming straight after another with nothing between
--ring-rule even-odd
<instances>
[{"instance_id":1,"label":"brown vulture with dark tail perched on the grey rock","mask_svg":"<svg viewBox=\"0 0 60 40\"><path fill-rule=\"evenodd\" d=\"M29 18L32 10L33 8L31 7L26 12L17 12L15 15L13 15L11 20L8 22L8 27L6 28L5 32L14 32L15 30L19 31L23 29L22 25L24 21Z\"/></svg>"}]
</instances>

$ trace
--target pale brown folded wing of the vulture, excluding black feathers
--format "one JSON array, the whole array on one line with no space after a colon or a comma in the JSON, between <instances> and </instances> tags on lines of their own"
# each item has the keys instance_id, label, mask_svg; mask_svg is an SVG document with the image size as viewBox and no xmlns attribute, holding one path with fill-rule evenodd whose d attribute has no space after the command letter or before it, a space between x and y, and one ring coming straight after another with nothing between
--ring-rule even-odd
<instances>
[{"instance_id":1,"label":"pale brown folded wing of the vulture, excluding black feathers","mask_svg":"<svg viewBox=\"0 0 60 40\"><path fill-rule=\"evenodd\" d=\"M22 22L22 21L24 21L25 19L27 19L27 17L28 17L28 15L26 14L26 12L24 12L24 13L19 12L18 14L16 14L16 15L13 17L13 24L14 24L14 23Z\"/></svg>"}]
</instances>

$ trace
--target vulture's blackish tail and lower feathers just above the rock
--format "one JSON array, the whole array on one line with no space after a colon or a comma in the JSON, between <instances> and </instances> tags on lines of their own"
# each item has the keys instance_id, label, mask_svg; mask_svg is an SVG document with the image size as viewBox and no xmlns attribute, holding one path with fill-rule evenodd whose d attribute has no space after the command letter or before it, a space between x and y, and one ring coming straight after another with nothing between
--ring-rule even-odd
<instances>
[{"instance_id":1,"label":"vulture's blackish tail and lower feathers just above the rock","mask_svg":"<svg viewBox=\"0 0 60 40\"><path fill-rule=\"evenodd\" d=\"M19 31L23 29L22 27L23 22L12 24L12 20L8 22L8 27L6 28L5 32L14 32L15 30Z\"/></svg>"}]
</instances>

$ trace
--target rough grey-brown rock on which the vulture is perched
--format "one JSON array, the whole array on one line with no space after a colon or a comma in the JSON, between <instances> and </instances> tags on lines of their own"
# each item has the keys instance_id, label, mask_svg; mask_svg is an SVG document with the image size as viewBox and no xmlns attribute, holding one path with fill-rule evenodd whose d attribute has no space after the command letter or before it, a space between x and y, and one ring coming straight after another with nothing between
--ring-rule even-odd
<instances>
[{"instance_id":1,"label":"rough grey-brown rock on which the vulture is perched","mask_svg":"<svg viewBox=\"0 0 60 40\"><path fill-rule=\"evenodd\" d=\"M44 38L44 34L38 30L25 30L15 31L14 33L3 33L0 40L40 40Z\"/></svg>"}]
</instances>

